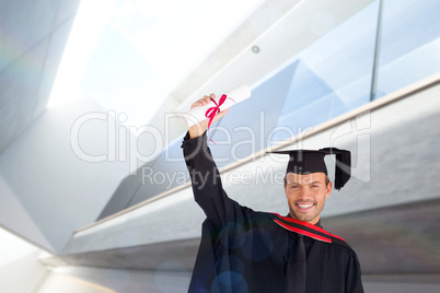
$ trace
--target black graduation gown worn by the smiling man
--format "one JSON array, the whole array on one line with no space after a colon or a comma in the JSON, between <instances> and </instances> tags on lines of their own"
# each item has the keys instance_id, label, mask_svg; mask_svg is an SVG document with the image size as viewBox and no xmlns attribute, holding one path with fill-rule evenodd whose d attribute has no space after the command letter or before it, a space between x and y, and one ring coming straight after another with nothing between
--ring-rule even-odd
<instances>
[{"instance_id":1,"label":"black graduation gown worn by the smiling man","mask_svg":"<svg viewBox=\"0 0 440 293\"><path fill-rule=\"evenodd\" d=\"M276 214L239 204L224 192L206 133L182 144L196 202L207 215L188 292L286 292L286 263L297 233ZM306 292L363 292L356 253L343 241L304 236Z\"/></svg>"}]
</instances>

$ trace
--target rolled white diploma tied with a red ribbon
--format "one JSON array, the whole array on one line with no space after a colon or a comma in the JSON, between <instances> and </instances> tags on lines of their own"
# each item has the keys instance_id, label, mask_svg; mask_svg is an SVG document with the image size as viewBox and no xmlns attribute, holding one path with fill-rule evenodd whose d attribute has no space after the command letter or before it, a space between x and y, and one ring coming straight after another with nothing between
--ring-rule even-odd
<instances>
[{"instance_id":1,"label":"rolled white diploma tied with a red ribbon","mask_svg":"<svg viewBox=\"0 0 440 293\"><path fill-rule=\"evenodd\" d=\"M243 102L244 99L248 98L251 96L251 89L246 84L242 84L240 86L236 86L233 90L228 91L224 93L227 95L227 99L223 102L223 104L220 106L220 112L225 110L233 105L239 104L240 102ZM217 104L219 104L219 99L222 95L216 96L215 101ZM206 112L210 107L216 107L216 104L209 103L205 106L201 107L195 107L188 110L187 113L183 113L180 116L185 118L185 121L188 127L192 127L198 122L201 122L205 119L208 119L206 117Z\"/></svg>"}]
</instances>

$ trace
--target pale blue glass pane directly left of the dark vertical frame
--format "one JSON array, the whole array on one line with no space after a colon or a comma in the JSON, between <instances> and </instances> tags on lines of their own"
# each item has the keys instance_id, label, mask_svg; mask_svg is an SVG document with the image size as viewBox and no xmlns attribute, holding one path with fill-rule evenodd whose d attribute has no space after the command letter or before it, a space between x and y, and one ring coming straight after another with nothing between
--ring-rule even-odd
<instances>
[{"instance_id":1,"label":"pale blue glass pane directly left of the dark vertical frame","mask_svg":"<svg viewBox=\"0 0 440 293\"><path fill-rule=\"evenodd\" d=\"M298 55L277 126L298 133L370 102L378 13L374 1Z\"/></svg>"}]
</instances>

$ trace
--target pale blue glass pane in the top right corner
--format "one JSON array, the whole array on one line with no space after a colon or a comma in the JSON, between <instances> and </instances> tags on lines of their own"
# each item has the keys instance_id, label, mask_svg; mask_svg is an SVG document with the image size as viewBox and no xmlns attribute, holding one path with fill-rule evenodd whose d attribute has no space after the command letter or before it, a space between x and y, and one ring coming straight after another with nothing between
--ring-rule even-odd
<instances>
[{"instance_id":1,"label":"pale blue glass pane in the top right corner","mask_svg":"<svg viewBox=\"0 0 440 293\"><path fill-rule=\"evenodd\" d=\"M379 98L440 71L440 1L383 0Z\"/></svg>"}]
</instances>

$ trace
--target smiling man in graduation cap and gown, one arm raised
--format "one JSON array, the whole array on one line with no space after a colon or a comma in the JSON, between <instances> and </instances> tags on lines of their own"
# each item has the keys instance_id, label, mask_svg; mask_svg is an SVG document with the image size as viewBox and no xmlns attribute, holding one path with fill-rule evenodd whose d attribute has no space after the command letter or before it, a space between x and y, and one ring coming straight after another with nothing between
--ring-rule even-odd
<instances>
[{"instance_id":1,"label":"smiling man in graduation cap and gown, one arm raised","mask_svg":"<svg viewBox=\"0 0 440 293\"><path fill-rule=\"evenodd\" d=\"M192 107L204 106L211 97ZM207 146L207 126L206 120L193 126L182 144L195 200L207 215L189 292L363 292L355 251L320 225L332 190L324 155L336 154L349 165L349 152L279 152L290 155L285 178L289 214L257 212L223 190ZM349 166L345 169L339 164L335 188L349 177Z\"/></svg>"}]
</instances>

